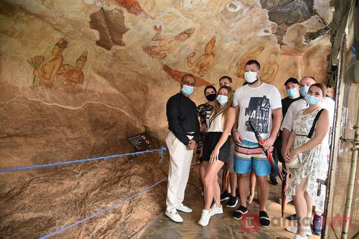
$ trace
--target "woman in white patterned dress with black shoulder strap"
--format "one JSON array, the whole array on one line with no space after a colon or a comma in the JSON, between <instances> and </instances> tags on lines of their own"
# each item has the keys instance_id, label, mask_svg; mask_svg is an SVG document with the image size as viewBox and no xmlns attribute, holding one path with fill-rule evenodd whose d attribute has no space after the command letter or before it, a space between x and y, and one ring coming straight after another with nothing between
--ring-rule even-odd
<instances>
[{"instance_id":1,"label":"woman in white patterned dress with black shoulder strap","mask_svg":"<svg viewBox=\"0 0 359 239\"><path fill-rule=\"evenodd\" d=\"M312 138L310 140L306 138L312 128L314 118L322 109L320 102L325 96L326 87L323 84L313 84L309 88L306 96L309 107L298 112L285 149L284 160L286 162L299 156L299 167L290 169L290 182L285 192L286 195L293 196L297 213L298 229L295 239L307 238L307 235L312 234L310 228L312 206L323 206L323 202L317 197L317 178L324 173L325 169L322 165L327 160L328 154L322 143L329 130L329 113L326 109L323 109L320 114Z\"/></svg>"}]
</instances>

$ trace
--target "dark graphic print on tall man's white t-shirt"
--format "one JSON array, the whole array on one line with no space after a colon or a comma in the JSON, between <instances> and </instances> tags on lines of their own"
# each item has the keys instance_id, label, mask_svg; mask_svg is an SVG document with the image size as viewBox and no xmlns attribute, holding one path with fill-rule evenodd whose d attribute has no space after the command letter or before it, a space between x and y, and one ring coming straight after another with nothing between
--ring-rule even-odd
<instances>
[{"instance_id":1,"label":"dark graphic print on tall man's white t-shirt","mask_svg":"<svg viewBox=\"0 0 359 239\"><path fill-rule=\"evenodd\" d=\"M252 131L249 121L259 133L268 133L270 102L266 96L251 97L246 108L246 131Z\"/></svg>"}]
</instances>

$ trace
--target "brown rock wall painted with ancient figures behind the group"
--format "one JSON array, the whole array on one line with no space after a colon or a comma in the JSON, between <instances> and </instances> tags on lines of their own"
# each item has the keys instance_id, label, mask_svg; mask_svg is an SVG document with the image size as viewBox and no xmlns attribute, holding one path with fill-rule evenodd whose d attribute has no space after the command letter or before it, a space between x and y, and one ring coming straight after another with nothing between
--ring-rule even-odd
<instances>
[{"instance_id":1,"label":"brown rock wall painted with ancient figures behind the group","mask_svg":"<svg viewBox=\"0 0 359 239\"><path fill-rule=\"evenodd\" d=\"M289 77L325 81L331 11L322 0L1 1L0 168L132 152L127 137L145 131L154 148L164 145L165 102L184 73L197 78L197 104L222 75L241 86L249 59L283 96ZM49 233L157 182L167 169L168 155L158 164L154 153L135 165L119 159L2 173L0 234ZM129 203L109 214L113 221L100 218L67 235L129 237L158 215L164 192L160 186L136 199L152 202L141 213Z\"/></svg>"}]
</instances>

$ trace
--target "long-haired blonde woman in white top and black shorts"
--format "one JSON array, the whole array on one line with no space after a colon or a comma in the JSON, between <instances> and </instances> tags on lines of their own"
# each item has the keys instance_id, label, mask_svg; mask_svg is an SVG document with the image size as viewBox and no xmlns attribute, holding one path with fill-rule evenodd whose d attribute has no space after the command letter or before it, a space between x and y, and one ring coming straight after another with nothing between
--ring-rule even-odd
<instances>
[{"instance_id":1,"label":"long-haired blonde woman in white top and black shorts","mask_svg":"<svg viewBox=\"0 0 359 239\"><path fill-rule=\"evenodd\" d=\"M217 93L211 112L208 131L203 142L202 158L205 168L203 177L205 206L198 224L207 226L211 216L223 213L220 204L218 172L227 162L230 151L228 136L233 127L236 112L232 105L233 92L228 86L222 86ZM211 206L212 201L214 204Z\"/></svg>"}]
</instances>

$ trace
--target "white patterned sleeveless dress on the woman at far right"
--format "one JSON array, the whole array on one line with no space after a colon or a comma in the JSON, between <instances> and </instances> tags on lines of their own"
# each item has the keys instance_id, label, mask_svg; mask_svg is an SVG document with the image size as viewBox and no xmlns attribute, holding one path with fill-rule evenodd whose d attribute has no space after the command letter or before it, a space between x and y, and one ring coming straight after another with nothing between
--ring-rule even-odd
<instances>
[{"instance_id":1,"label":"white patterned sleeveless dress on the woman at far right","mask_svg":"<svg viewBox=\"0 0 359 239\"><path fill-rule=\"evenodd\" d=\"M295 140L293 148L298 148L306 142L306 136L312 128L314 118L321 108L314 110L309 114L303 114L304 109L298 112L297 118L293 122L292 130L295 133ZM314 131L315 134L315 131ZM314 134L312 137L314 137ZM323 212L325 193L318 194L317 179L325 178L327 169L323 167L327 161L328 148L327 144L320 143L311 150L305 151L298 155L299 167L297 169L290 169L290 181L285 192L286 195L295 195L295 187L300 183L300 180L308 177L307 193L311 196L313 206L316 206L316 211ZM322 191L322 188L321 188Z\"/></svg>"}]
</instances>

